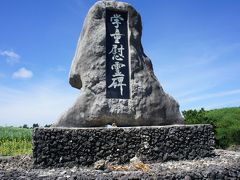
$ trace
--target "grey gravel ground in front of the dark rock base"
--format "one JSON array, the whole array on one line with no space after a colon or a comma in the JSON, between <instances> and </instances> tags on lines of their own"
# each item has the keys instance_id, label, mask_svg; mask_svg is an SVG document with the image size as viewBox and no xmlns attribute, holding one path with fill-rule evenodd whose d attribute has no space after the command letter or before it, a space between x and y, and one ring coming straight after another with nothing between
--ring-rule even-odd
<instances>
[{"instance_id":1,"label":"grey gravel ground in front of the dark rock base","mask_svg":"<svg viewBox=\"0 0 240 180\"><path fill-rule=\"evenodd\" d=\"M93 167L34 168L31 156L0 158L0 179L240 179L240 152L215 150L212 158L152 163L144 171Z\"/></svg>"}]
</instances>

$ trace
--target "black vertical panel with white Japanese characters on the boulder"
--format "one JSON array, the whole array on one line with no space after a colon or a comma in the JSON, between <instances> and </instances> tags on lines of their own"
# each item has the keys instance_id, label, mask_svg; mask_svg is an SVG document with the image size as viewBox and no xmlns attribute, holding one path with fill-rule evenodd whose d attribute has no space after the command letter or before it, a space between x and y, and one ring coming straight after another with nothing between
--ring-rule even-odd
<instances>
[{"instance_id":1,"label":"black vertical panel with white Japanese characters on the boulder","mask_svg":"<svg viewBox=\"0 0 240 180\"><path fill-rule=\"evenodd\" d=\"M106 97L129 99L128 13L106 10Z\"/></svg>"}]
</instances>

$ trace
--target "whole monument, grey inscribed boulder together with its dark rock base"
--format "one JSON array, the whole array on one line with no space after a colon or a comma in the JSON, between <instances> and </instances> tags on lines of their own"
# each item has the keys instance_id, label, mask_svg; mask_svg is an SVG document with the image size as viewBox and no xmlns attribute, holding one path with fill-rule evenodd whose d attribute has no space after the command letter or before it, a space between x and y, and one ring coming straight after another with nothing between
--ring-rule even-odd
<instances>
[{"instance_id":1,"label":"whole monument, grey inscribed boulder together with its dark rock base","mask_svg":"<svg viewBox=\"0 0 240 180\"><path fill-rule=\"evenodd\" d=\"M211 125L171 125L183 123L179 105L155 77L141 34L141 17L127 3L99 1L90 9L70 72L80 97L51 128L34 129L35 165L124 164L134 157L162 162L214 154Z\"/></svg>"}]
</instances>

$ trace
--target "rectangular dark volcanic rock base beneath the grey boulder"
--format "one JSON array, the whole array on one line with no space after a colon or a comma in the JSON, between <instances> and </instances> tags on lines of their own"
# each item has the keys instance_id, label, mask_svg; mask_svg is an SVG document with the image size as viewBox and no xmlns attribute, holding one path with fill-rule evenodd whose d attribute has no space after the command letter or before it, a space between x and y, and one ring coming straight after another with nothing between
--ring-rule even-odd
<instances>
[{"instance_id":1,"label":"rectangular dark volcanic rock base beneath the grey boulder","mask_svg":"<svg viewBox=\"0 0 240 180\"><path fill-rule=\"evenodd\" d=\"M210 125L129 128L36 128L36 166L90 166L104 159L123 164L134 156L144 163L199 159L214 155Z\"/></svg>"}]
</instances>

